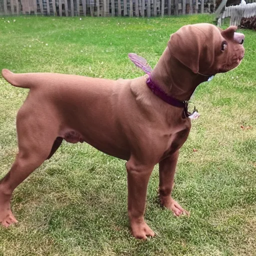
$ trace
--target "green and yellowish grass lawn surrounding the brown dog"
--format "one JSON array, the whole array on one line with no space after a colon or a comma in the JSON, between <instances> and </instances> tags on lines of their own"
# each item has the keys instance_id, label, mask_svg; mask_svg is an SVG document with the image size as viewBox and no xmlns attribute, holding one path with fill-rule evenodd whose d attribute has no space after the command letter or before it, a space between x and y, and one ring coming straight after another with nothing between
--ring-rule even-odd
<instances>
[{"instance_id":1,"label":"green and yellowish grass lawn surrounding the brown dog","mask_svg":"<svg viewBox=\"0 0 256 256\"><path fill-rule=\"evenodd\" d=\"M154 66L171 33L212 20L4 17L0 69L133 78L143 73L129 52ZM256 33L239 32L245 34L241 65L201 84L191 99L201 116L180 150L173 190L190 217L159 206L156 166L145 219L157 236L133 238L124 161L64 142L14 191L19 222L0 227L0 255L256 255ZM0 77L0 177L15 157L15 115L26 94Z\"/></svg>"}]
</instances>

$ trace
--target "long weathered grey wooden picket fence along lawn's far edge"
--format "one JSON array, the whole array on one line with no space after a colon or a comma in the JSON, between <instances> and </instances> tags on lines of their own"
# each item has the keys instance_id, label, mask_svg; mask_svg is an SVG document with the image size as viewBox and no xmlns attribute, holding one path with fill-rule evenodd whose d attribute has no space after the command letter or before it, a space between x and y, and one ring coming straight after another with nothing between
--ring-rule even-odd
<instances>
[{"instance_id":1,"label":"long weathered grey wooden picket fence along lawn's far edge","mask_svg":"<svg viewBox=\"0 0 256 256\"><path fill-rule=\"evenodd\" d=\"M0 15L150 17L214 10L215 0L0 0Z\"/></svg>"}]
</instances>

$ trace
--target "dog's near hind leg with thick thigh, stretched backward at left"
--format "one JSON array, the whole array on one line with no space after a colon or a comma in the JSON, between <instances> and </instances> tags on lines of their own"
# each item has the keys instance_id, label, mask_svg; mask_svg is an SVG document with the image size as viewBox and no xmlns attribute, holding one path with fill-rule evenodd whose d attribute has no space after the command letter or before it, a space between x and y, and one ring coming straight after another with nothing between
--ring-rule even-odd
<instances>
[{"instance_id":1,"label":"dog's near hind leg with thick thigh, stretched backward at left","mask_svg":"<svg viewBox=\"0 0 256 256\"><path fill-rule=\"evenodd\" d=\"M57 137L52 122L47 123L44 117L34 115L33 110L19 111L17 115L18 153L10 171L0 181L0 223L5 227L16 222L10 209L13 190L49 157Z\"/></svg>"}]
</instances>

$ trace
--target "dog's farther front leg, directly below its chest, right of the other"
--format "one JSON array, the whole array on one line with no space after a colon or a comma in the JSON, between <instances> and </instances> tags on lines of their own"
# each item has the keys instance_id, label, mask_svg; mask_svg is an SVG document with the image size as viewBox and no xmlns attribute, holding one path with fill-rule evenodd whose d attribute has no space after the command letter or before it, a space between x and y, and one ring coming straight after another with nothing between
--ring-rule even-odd
<instances>
[{"instance_id":1,"label":"dog's farther front leg, directly below its chest, right of the other","mask_svg":"<svg viewBox=\"0 0 256 256\"><path fill-rule=\"evenodd\" d=\"M174 173L178 159L178 150L169 157L159 162L159 197L160 203L172 210L174 215L179 216L182 213L189 215L188 211L183 209L172 197L171 190L174 180Z\"/></svg>"}]
</instances>

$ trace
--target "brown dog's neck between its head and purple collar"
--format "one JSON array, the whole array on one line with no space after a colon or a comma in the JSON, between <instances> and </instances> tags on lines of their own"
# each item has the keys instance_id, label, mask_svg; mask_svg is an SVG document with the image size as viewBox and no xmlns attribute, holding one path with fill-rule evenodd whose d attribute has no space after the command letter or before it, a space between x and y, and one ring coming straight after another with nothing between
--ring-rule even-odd
<instances>
[{"instance_id":1,"label":"brown dog's neck between its head and purple collar","mask_svg":"<svg viewBox=\"0 0 256 256\"><path fill-rule=\"evenodd\" d=\"M193 73L172 57L168 47L163 51L150 76L164 92L179 100L189 100L197 85L208 79L207 76Z\"/></svg>"}]
</instances>

